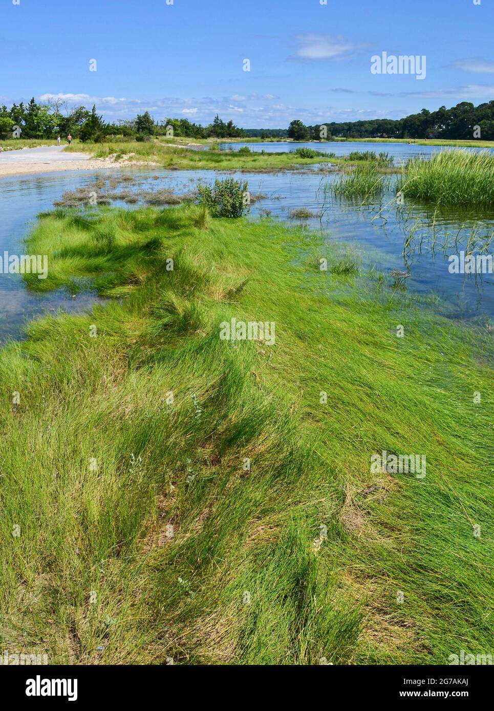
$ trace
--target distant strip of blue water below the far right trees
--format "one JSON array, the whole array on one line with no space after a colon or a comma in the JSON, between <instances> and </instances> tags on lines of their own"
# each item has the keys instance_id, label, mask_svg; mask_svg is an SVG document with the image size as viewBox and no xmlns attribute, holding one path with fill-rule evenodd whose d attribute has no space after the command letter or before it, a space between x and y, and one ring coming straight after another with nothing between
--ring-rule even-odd
<instances>
[{"instance_id":1,"label":"distant strip of blue water below the far right trees","mask_svg":"<svg viewBox=\"0 0 494 711\"><path fill-rule=\"evenodd\" d=\"M409 158L414 158L416 156L431 156L439 151L449 151L458 150L453 146L419 146L417 144L407 144L407 143L365 143L361 141L330 141L329 143L303 143L302 141L297 141L296 143L288 143L286 141L266 141L266 143L221 143L221 151L238 151L243 148L243 146L248 146L251 151L261 152L266 151L266 153L286 153L289 151L296 151L298 148L311 148L315 151L323 151L324 153L334 153L337 158L340 156L347 156L351 151L374 151L375 154L379 154L382 151L384 153L389 153L393 156L395 164L401 164L406 162ZM461 149L465 151L493 151L494 149L485 148L466 148Z\"/></svg>"}]
</instances>

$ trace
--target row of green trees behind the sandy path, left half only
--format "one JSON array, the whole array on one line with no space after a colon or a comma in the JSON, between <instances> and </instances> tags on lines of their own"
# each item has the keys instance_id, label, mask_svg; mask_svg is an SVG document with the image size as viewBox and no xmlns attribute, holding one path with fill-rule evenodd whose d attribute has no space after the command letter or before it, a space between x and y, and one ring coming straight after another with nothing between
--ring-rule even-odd
<instances>
[{"instance_id":1,"label":"row of green trees behind the sandy path, left half only","mask_svg":"<svg viewBox=\"0 0 494 711\"><path fill-rule=\"evenodd\" d=\"M38 104L32 98L27 105L21 102L10 109L5 105L0 107L0 139L53 139L59 134L64 137L70 134L81 141L95 143L117 136L145 141L152 136L221 139L245 135L233 121L224 122L218 115L208 126L194 124L187 119L167 118L155 122L148 111L138 114L135 119L107 123L98 115L95 106L89 111L83 106L70 107L66 102L57 100Z\"/></svg>"}]
</instances>

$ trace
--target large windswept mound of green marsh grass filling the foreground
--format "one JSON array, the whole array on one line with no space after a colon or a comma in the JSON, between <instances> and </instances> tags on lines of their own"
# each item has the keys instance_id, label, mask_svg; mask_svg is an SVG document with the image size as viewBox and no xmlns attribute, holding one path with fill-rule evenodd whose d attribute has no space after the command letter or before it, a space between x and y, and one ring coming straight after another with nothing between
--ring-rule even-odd
<instances>
[{"instance_id":1,"label":"large windswept mound of green marsh grass filling the foreground","mask_svg":"<svg viewBox=\"0 0 494 711\"><path fill-rule=\"evenodd\" d=\"M127 296L0 351L2 649L290 665L491 650L492 336L387 277L323 271L341 258L319 235L196 206L56 212L26 248L53 287ZM221 341L233 316L274 321L275 344ZM426 454L426 479L370 474L382 449Z\"/></svg>"}]
</instances>

